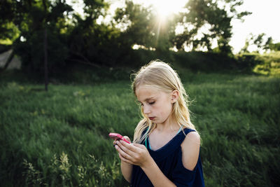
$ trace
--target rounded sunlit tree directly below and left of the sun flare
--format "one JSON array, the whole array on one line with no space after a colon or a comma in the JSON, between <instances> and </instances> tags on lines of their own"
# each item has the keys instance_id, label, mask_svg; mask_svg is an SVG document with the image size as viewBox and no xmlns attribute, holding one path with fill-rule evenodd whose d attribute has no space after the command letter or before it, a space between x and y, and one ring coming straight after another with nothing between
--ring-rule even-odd
<instances>
[{"instance_id":1,"label":"rounded sunlit tree directly below and left of the sun flare","mask_svg":"<svg viewBox=\"0 0 280 187\"><path fill-rule=\"evenodd\" d=\"M144 7L125 1L125 7L116 10L114 21L116 27L120 28L120 38L129 48L137 44L162 53L173 47L171 39L176 25L174 17L165 20L158 18L153 6Z\"/></svg>"}]
</instances>

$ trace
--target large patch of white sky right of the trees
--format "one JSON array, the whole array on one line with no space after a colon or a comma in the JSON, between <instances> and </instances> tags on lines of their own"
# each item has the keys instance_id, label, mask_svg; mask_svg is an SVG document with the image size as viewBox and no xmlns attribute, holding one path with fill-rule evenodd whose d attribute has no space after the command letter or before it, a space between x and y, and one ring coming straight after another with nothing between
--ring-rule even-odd
<instances>
[{"instance_id":1,"label":"large patch of white sky right of the trees","mask_svg":"<svg viewBox=\"0 0 280 187\"><path fill-rule=\"evenodd\" d=\"M230 46L234 48L234 53L244 46L250 33L265 33L267 37L272 36L274 43L280 42L280 0L244 0L240 10L252 14L244 17L244 22L232 22ZM249 50L255 50L254 46Z\"/></svg>"}]
</instances>

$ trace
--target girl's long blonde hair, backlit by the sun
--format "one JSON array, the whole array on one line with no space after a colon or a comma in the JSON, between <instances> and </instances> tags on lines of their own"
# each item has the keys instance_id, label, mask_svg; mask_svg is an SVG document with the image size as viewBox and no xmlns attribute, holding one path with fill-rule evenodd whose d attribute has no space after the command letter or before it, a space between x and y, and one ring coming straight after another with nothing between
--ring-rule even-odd
<instances>
[{"instance_id":1,"label":"girl's long blonde hair, backlit by the sun","mask_svg":"<svg viewBox=\"0 0 280 187\"><path fill-rule=\"evenodd\" d=\"M152 61L146 66L133 74L134 81L132 82L132 89L134 95L137 96L137 88L140 85L151 85L153 88L158 88L163 92L172 92L174 90L179 91L179 99L174 103L172 107L172 118L176 120L178 125L182 128L187 127L195 130L195 125L190 122L190 111L188 110L188 95L185 88L181 83L181 79L178 74L169 64L160 62L158 60ZM134 143L141 143L146 139L148 134L155 128L155 124L144 115L143 108L141 107L141 115L143 119L140 120L137 127L134 130ZM144 130L148 130L142 136Z\"/></svg>"}]
</instances>

